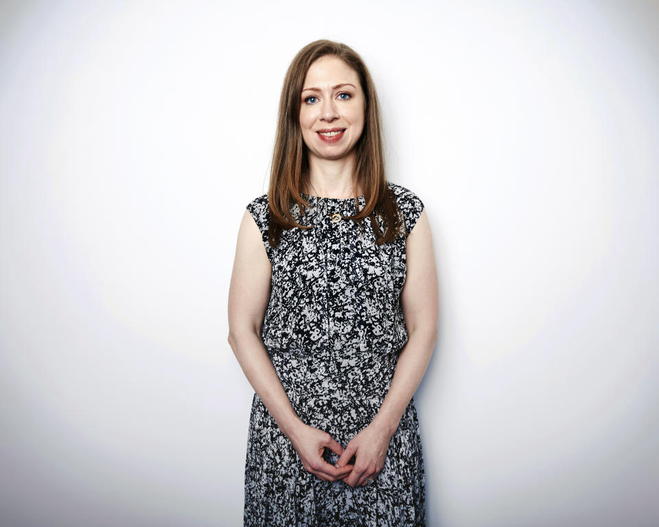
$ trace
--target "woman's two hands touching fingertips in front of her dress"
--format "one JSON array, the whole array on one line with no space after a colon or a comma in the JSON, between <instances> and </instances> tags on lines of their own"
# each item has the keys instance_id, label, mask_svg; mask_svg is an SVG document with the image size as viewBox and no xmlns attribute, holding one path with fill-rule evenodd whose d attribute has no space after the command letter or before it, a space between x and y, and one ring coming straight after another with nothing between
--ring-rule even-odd
<instances>
[{"instance_id":1,"label":"woman's two hands touching fingertips in front of her dress","mask_svg":"<svg viewBox=\"0 0 659 527\"><path fill-rule=\"evenodd\" d=\"M350 487L362 487L369 484L366 478L375 480L384 467L392 435L373 422L354 436L344 449L327 432L301 423L289 439L305 470L314 476L326 481L343 480ZM323 458L325 447L340 456L336 465ZM353 456L355 463L350 465Z\"/></svg>"}]
</instances>

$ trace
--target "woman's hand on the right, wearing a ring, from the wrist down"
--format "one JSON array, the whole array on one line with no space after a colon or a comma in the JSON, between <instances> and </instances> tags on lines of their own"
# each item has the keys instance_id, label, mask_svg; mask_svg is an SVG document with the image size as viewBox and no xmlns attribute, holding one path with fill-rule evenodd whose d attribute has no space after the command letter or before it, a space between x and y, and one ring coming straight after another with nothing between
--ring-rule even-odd
<instances>
[{"instance_id":1,"label":"woman's hand on the right, wearing a ring, from the wrist down","mask_svg":"<svg viewBox=\"0 0 659 527\"><path fill-rule=\"evenodd\" d=\"M352 456L355 456L354 467L343 481L350 487L359 487L369 484L365 481L366 478L375 480L384 467L384 458L389 450L392 435L381 426L371 423L354 436L336 462L336 467L340 468L347 465Z\"/></svg>"}]
</instances>

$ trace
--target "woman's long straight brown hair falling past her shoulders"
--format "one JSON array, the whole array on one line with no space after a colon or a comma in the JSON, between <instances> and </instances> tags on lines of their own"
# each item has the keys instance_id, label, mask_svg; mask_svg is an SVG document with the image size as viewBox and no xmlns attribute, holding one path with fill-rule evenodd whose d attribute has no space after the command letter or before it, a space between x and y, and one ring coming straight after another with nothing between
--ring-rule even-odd
<instances>
[{"instance_id":1,"label":"woman's long straight brown hair falling past her shoulders","mask_svg":"<svg viewBox=\"0 0 659 527\"><path fill-rule=\"evenodd\" d=\"M366 99L364 129L354 147L356 155L353 173L355 189L362 188L366 203L365 207L359 210L355 190L354 200L358 213L344 218L360 222L364 218L370 218L376 244L390 243L400 233L404 235L402 215L395 196L386 185L382 119L371 74L362 58L349 46L332 40L316 40L303 47L290 63L279 98L277 133L268 188L268 243L272 247L279 246L283 229L313 228L299 224L292 217L290 210L294 204L297 204L300 211L303 207L309 208L308 202L299 194L309 183L308 148L302 138L299 115L307 71L314 60L325 55L336 56L354 69ZM380 229L378 216L384 224L384 229Z\"/></svg>"}]
</instances>

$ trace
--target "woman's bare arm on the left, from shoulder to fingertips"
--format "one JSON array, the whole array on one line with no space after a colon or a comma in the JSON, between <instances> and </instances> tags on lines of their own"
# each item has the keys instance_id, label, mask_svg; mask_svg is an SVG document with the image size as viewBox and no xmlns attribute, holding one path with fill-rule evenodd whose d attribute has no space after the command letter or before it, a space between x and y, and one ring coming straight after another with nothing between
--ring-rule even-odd
<instances>
[{"instance_id":1,"label":"woman's bare arm on the left, from shoulder to fingertips","mask_svg":"<svg viewBox=\"0 0 659 527\"><path fill-rule=\"evenodd\" d=\"M229 286L229 345L279 430L294 445L305 469L325 480L343 478L349 469L337 469L322 458L323 447L339 455L343 447L327 432L305 424L295 413L261 340L271 277L272 266L261 231L245 211L238 230Z\"/></svg>"}]
</instances>

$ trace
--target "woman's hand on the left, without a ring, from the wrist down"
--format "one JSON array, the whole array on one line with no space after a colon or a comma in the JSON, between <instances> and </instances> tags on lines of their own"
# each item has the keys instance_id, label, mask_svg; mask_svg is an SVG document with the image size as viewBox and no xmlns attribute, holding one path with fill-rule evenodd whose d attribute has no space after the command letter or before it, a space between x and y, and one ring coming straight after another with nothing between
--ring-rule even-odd
<instances>
[{"instance_id":1,"label":"woman's hand on the left, without a ring, from the wrist down","mask_svg":"<svg viewBox=\"0 0 659 527\"><path fill-rule=\"evenodd\" d=\"M323 430L314 428L306 423L301 423L290 434L289 439L304 469L314 474L314 476L321 478L321 480L340 480L352 470L352 465L345 465L338 469L323 459L325 447L339 456L343 453L343 447L340 443L327 432L323 432Z\"/></svg>"}]
</instances>

